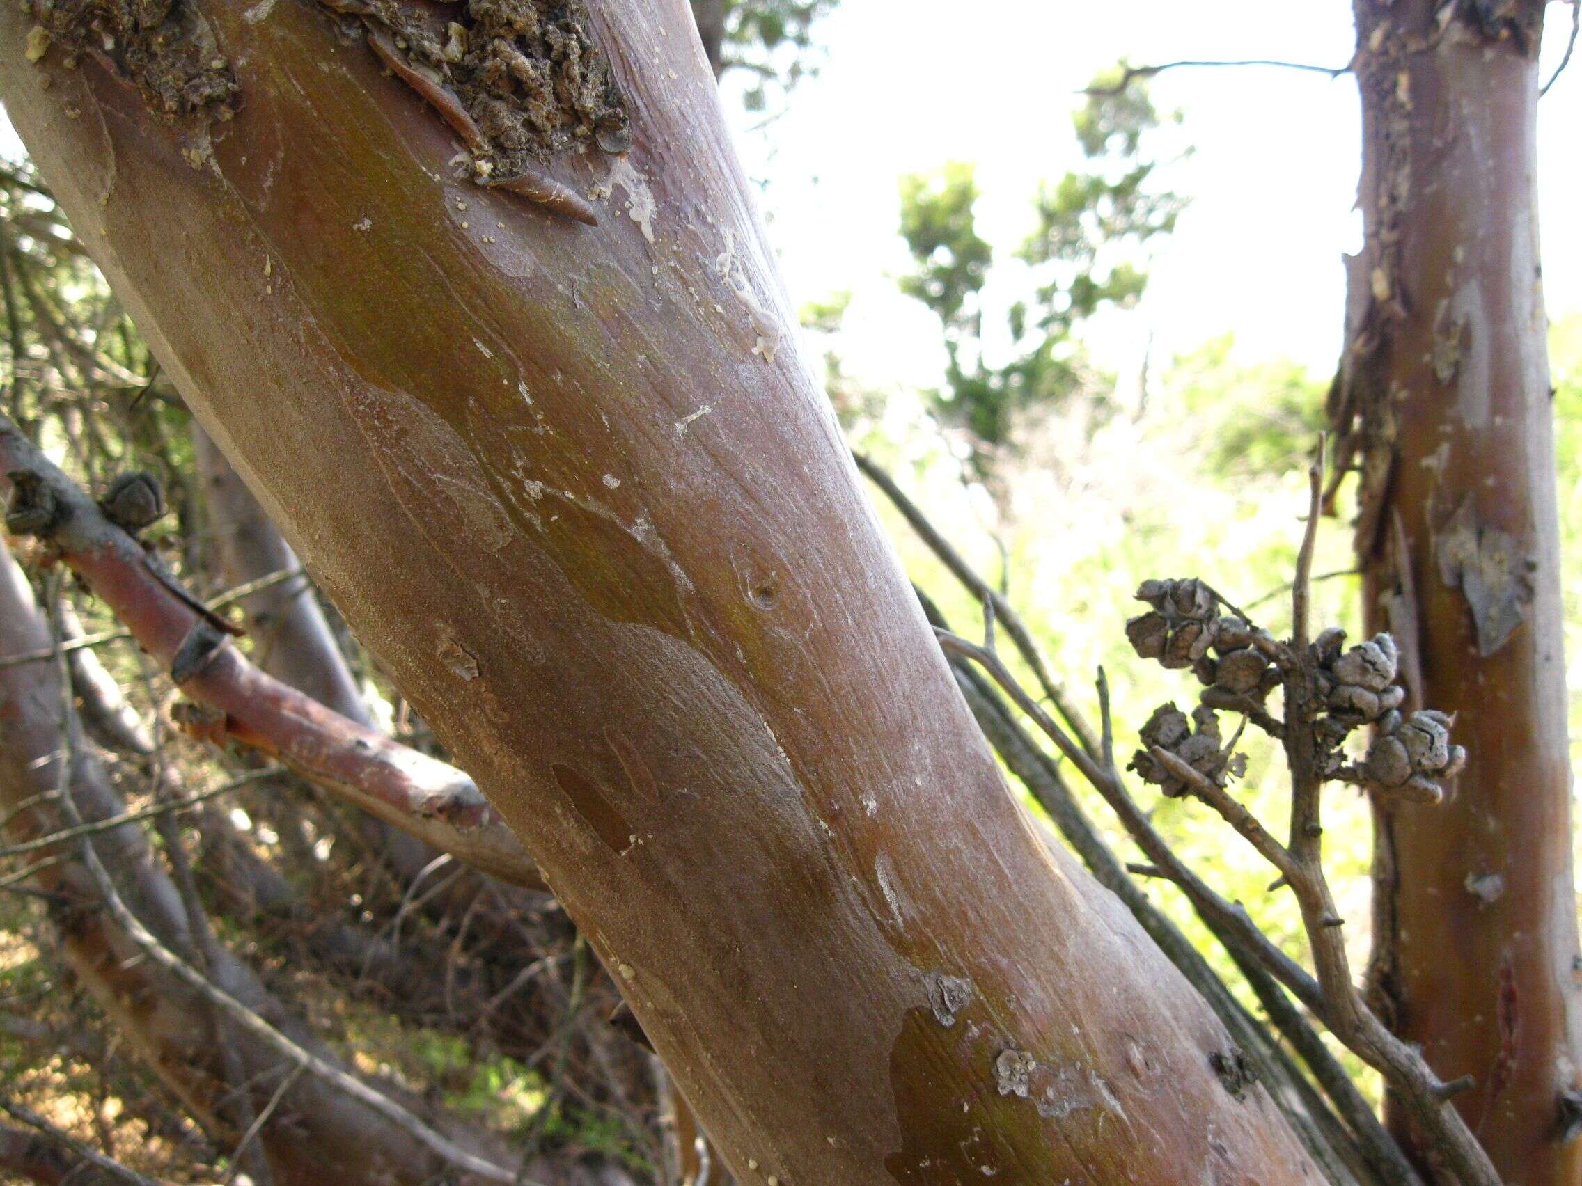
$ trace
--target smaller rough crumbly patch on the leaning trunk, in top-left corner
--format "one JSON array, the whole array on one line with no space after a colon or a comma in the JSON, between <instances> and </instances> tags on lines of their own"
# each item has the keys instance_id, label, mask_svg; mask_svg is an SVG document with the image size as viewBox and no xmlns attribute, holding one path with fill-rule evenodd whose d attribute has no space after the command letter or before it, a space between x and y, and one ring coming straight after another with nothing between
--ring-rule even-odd
<instances>
[{"instance_id":1,"label":"smaller rough crumbly patch on the leaning trunk, in top-left corner","mask_svg":"<svg viewBox=\"0 0 1582 1186\"><path fill-rule=\"evenodd\" d=\"M236 74L191 0L24 0L28 59L97 59L168 120L229 119Z\"/></svg>"}]
</instances>

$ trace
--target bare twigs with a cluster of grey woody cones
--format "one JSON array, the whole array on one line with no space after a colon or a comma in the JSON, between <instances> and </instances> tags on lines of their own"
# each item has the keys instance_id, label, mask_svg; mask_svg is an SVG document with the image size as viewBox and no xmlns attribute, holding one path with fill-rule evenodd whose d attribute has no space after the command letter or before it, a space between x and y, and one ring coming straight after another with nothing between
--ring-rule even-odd
<instances>
[{"instance_id":1,"label":"bare twigs with a cluster of grey woody cones","mask_svg":"<svg viewBox=\"0 0 1582 1186\"><path fill-rule=\"evenodd\" d=\"M872 473L873 466L864 465L864 470ZM927 519L894 482L880 485L892 500L900 500L902 512L914 527L927 527ZM1432 710L1402 715L1405 696L1397 683L1395 645L1387 634L1351 648L1343 647L1345 636L1338 629L1310 637L1311 565L1323 489L1321 462L1315 462L1307 531L1291 584L1294 628L1289 639L1275 639L1198 579L1145 582L1137 596L1147 612L1126 625L1128 639L1142 658L1169 669L1190 669L1202 685L1199 704L1190 715L1175 705L1163 705L1142 726L1142 745L1131 769L1166 795L1204 802L1275 867L1280 874L1275 884L1289 887L1296 895L1316 976L1269 939L1240 903L1215 892L1153 827L1115 765L1114 721L1103 672L1098 685L1103 740L1095 751L1062 727L1001 659L993 645L993 625L1000 617L993 599L984 598L982 645L938 626L937 634L948 655L981 666L1115 811L1147 859L1144 865L1130 867L1133 873L1174 882L1232 958L1248 971L1255 990L1258 980L1272 977L1362 1061L1380 1071L1411 1105L1457 1181L1498 1186L1487 1154L1455 1109L1448 1105L1470 1083L1440 1080L1421 1052L1395 1037L1359 991L1345 949L1343 919L1324 874L1321 792L1326 783L1351 783L1376 795L1438 802L1443 781L1455 775L1465 753L1451 743L1452 721L1444 715ZM919 534L935 546L938 536L932 527ZM981 579L963 579L963 584L982 596ZM1275 691L1283 699L1278 715L1269 707ZM1220 723L1223 712L1242 718L1229 742ZM1269 734L1285 751L1292 788L1291 830L1285 840L1274 835L1231 791L1232 778L1242 770L1236 746L1248 727ZM1361 756L1348 757L1346 740L1364 727L1372 727L1370 743ZM1093 860L1088 859L1088 863ZM1259 996L1272 1006L1272 1020L1286 1031L1281 1018L1275 1017L1285 996L1266 998L1267 990L1278 993L1278 988L1266 984ZM1289 1020L1285 1018L1286 1023ZM1299 1031L1292 1041L1299 1047L1307 1045ZM1381 1154L1386 1164L1383 1173L1394 1181L1413 1181L1413 1172L1405 1167L1398 1150L1375 1131L1354 1091L1329 1082L1340 1078L1334 1074L1318 1074L1359 1139L1373 1143Z\"/></svg>"}]
</instances>

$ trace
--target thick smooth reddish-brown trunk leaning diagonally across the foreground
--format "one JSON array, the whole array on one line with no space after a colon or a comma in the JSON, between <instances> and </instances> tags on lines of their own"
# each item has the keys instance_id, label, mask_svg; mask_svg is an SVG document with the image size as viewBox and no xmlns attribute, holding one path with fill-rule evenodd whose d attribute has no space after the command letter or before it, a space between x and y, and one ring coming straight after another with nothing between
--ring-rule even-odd
<instances>
[{"instance_id":1,"label":"thick smooth reddish-brown trunk leaning diagonally across the foreground","mask_svg":"<svg viewBox=\"0 0 1582 1186\"><path fill-rule=\"evenodd\" d=\"M596 228L454 180L451 127L326 13L199 8L240 87L207 155L93 62L28 63L14 8L6 108L732 1170L1311 1181L1262 1090L1215 1077L1207 1006L1008 795L685 5L590 5L634 147L546 168Z\"/></svg>"}]
</instances>

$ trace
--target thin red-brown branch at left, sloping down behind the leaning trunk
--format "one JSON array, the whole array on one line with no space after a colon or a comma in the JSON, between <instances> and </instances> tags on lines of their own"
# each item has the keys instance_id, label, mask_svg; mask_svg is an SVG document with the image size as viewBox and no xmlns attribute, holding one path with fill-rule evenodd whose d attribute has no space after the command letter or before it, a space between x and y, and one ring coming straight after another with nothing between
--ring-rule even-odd
<instances>
[{"instance_id":1,"label":"thin red-brown branch at left, sloping down behind the leaning trunk","mask_svg":"<svg viewBox=\"0 0 1582 1186\"><path fill-rule=\"evenodd\" d=\"M193 732L277 757L315 786L501 881L544 887L471 778L253 666L207 625L158 558L111 523L9 421L0 424L0 468L38 479L57 508L46 536L60 558L144 650L166 669L180 667L174 675L185 677L177 678L182 693L207 710L184 713Z\"/></svg>"}]
</instances>

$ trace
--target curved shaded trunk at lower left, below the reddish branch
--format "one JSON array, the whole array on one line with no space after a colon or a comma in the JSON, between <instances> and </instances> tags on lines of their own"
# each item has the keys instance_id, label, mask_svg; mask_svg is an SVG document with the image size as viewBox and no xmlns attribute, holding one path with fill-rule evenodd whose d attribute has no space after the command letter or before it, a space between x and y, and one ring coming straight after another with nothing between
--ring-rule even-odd
<instances>
[{"instance_id":1,"label":"curved shaded trunk at lower left, below the reddish branch","mask_svg":"<svg viewBox=\"0 0 1582 1186\"><path fill-rule=\"evenodd\" d=\"M19 655L47 645L51 634L33 604L33 591L6 552L0 557L0 653ZM9 816L6 833L13 843L54 835L68 822L47 802L14 813L60 784L60 683L52 663L0 667L0 810ZM103 767L78 750L70 780L78 811L89 821L122 814L125 806ZM223 991L297 1044L334 1058L247 965L223 947L204 949L182 895L141 827L112 829L93 844L128 906L165 946L190 963L207 963L209 979ZM147 960L104 911L78 846L60 844L57 852L60 863L43 868L33 882L59 898L54 925L73 974L191 1115L210 1134L234 1142L242 1127L236 1120L239 1093L250 1099L247 1115L256 1116L291 1064ZM312 1075L296 1078L272 1120L258 1140L277 1186L326 1180L418 1186L451 1169L405 1131ZM509 1164L503 1145L489 1134L452 1135Z\"/></svg>"}]
</instances>

